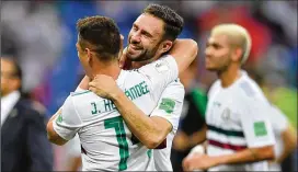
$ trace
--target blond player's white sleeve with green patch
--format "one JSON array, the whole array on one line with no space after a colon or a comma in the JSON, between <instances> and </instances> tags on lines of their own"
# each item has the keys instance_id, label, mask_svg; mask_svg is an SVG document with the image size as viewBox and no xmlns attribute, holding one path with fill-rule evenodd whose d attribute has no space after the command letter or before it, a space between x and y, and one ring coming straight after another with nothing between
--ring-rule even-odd
<instances>
[{"instance_id":1,"label":"blond player's white sleeve with green patch","mask_svg":"<svg viewBox=\"0 0 298 172\"><path fill-rule=\"evenodd\" d=\"M249 148L275 144L272 124L267 116L271 106L256 99L249 99L240 115L243 133Z\"/></svg>"}]
</instances>

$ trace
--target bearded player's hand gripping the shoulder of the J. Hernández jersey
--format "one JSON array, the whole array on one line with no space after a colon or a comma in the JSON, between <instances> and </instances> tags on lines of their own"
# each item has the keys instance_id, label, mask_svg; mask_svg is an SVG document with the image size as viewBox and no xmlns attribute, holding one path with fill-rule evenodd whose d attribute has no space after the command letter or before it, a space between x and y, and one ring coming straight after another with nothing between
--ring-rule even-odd
<instances>
[{"instance_id":1,"label":"bearded player's hand gripping the shoulder of the J. Hern\u00e1ndez jersey","mask_svg":"<svg viewBox=\"0 0 298 172\"><path fill-rule=\"evenodd\" d=\"M98 74L91 82L89 82L89 90L101 98L113 100L121 91L116 81L105 74Z\"/></svg>"}]
</instances>

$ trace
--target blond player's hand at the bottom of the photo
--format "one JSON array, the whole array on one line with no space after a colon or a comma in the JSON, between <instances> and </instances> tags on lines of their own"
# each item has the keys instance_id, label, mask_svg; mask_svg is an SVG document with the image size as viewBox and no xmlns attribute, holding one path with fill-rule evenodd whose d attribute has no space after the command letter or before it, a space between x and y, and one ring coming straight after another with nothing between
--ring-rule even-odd
<instances>
[{"instance_id":1,"label":"blond player's hand at the bottom of the photo","mask_svg":"<svg viewBox=\"0 0 298 172\"><path fill-rule=\"evenodd\" d=\"M218 158L195 153L191 157L186 157L182 165L184 171L208 170L211 167L218 165Z\"/></svg>"}]
</instances>

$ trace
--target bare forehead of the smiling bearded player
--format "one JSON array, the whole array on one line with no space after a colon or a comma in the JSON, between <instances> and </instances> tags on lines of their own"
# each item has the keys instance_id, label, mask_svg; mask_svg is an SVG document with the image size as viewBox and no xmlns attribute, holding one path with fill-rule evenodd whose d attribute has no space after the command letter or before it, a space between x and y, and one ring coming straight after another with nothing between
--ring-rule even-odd
<instances>
[{"instance_id":1,"label":"bare forehead of the smiling bearded player","mask_svg":"<svg viewBox=\"0 0 298 172\"><path fill-rule=\"evenodd\" d=\"M134 24L136 24L140 30L147 31L152 35L160 35L163 33L163 21L151 14L139 15Z\"/></svg>"}]
</instances>

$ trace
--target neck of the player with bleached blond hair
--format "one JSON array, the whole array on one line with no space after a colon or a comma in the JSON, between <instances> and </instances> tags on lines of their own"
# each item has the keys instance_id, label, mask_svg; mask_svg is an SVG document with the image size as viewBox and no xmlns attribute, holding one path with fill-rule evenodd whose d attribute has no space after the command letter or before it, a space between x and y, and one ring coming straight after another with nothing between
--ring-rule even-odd
<instances>
[{"instance_id":1,"label":"neck of the player with bleached blond hair","mask_svg":"<svg viewBox=\"0 0 298 172\"><path fill-rule=\"evenodd\" d=\"M228 88L241 77L239 67L230 66L227 70L218 73L222 88Z\"/></svg>"}]
</instances>

